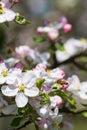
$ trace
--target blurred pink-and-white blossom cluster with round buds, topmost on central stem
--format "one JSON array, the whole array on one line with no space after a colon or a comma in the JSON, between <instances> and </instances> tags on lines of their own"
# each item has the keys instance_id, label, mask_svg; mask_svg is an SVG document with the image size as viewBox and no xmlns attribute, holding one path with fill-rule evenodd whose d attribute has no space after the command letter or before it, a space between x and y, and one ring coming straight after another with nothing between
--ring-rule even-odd
<instances>
[{"instance_id":1,"label":"blurred pink-and-white blossom cluster with round buds, topmost on central stem","mask_svg":"<svg viewBox=\"0 0 87 130\"><path fill-rule=\"evenodd\" d=\"M64 32L69 32L72 30L72 25L68 23L66 17L62 16L59 21L51 22L48 19L44 21L44 27L38 27L36 32L38 34L47 34L47 37L54 41L59 37L59 31L62 29Z\"/></svg>"}]
</instances>

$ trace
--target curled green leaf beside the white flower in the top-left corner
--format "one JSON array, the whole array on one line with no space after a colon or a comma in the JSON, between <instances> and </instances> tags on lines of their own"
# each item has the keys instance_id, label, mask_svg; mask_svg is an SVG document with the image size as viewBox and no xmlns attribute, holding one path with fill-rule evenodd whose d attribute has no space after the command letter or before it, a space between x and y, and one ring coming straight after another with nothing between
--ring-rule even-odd
<instances>
[{"instance_id":1,"label":"curled green leaf beside the white flower in the top-left corner","mask_svg":"<svg viewBox=\"0 0 87 130\"><path fill-rule=\"evenodd\" d=\"M29 25L31 23L30 21L26 20L25 17L20 15L19 13L16 14L14 21L20 25Z\"/></svg>"}]
</instances>

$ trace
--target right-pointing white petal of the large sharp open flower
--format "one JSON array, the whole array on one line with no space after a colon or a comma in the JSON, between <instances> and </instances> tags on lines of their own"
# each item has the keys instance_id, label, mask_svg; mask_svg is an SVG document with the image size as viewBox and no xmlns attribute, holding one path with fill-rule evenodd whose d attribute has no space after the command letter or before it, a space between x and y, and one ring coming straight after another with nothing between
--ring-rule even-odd
<instances>
[{"instance_id":1,"label":"right-pointing white petal of the large sharp open flower","mask_svg":"<svg viewBox=\"0 0 87 130\"><path fill-rule=\"evenodd\" d=\"M25 95L29 97L36 97L39 94L39 89L37 87L32 87L29 89L25 89Z\"/></svg>"}]
</instances>

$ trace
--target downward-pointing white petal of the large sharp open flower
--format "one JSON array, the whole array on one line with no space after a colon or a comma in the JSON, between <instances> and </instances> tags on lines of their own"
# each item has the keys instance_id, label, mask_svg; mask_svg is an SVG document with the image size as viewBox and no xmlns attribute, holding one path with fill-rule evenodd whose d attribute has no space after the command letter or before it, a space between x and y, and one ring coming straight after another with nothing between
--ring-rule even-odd
<instances>
[{"instance_id":1,"label":"downward-pointing white petal of the large sharp open flower","mask_svg":"<svg viewBox=\"0 0 87 130\"><path fill-rule=\"evenodd\" d=\"M24 93L20 92L16 95L15 98L17 107L24 107L28 103L28 97L24 95Z\"/></svg>"}]
</instances>

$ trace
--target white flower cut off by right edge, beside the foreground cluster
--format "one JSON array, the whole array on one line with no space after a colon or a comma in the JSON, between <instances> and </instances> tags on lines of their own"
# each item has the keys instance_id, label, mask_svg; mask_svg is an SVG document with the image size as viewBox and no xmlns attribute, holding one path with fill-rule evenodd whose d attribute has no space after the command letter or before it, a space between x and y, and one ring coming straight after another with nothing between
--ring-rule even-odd
<instances>
[{"instance_id":1,"label":"white flower cut off by right edge, beside the foreground cluster","mask_svg":"<svg viewBox=\"0 0 87 130\"><path fill-rule=\"evenodd\" d=\"M76 110L85 110L85 104L87 104L87 81L80 82L76 75L68 78L69 87L67 91L72 94L72 97L76 100Z\"/></svg>"}]
</instances>

